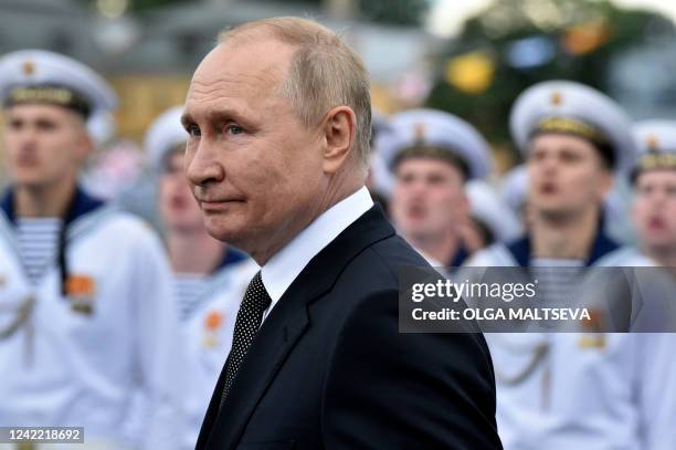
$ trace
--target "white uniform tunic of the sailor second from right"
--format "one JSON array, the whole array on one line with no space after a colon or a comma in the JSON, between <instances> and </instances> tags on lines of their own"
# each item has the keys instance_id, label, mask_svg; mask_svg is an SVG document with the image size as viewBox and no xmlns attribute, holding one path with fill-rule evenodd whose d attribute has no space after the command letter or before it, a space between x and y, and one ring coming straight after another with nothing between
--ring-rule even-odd
<instances>
[{"instance_id":1,"label":"white uniform tunic of the sailor second from right","mask_svg":"<svg viewBox=\"0 0 676 450\"><path fill-rule=\"evenodd\" d=\"M611 251L600 234L590 260L580 263L598 264ZM528 252L526 240L496 244L468 265L535 268ZM495 333L486 338L506 450L676 448L676 335Z\"/></svg>"}]
</instances>

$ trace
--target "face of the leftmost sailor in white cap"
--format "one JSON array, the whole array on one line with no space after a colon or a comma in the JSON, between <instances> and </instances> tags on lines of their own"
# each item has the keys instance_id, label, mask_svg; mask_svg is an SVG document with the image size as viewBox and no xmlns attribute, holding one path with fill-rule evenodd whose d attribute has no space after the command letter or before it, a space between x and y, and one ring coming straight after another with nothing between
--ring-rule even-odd
<instances>
[{"instance_id":1,"label":"face of the leftmost sailor in white cap","mask_svg":"<svg viewBox=\"0 0 676 450\"><path fill-rule=\"evenodd\" d=\"M83 119L52 105L6 109L8 168L18 187L44 188L76 176L89 147Z\"/></svg>"}]
</instances>

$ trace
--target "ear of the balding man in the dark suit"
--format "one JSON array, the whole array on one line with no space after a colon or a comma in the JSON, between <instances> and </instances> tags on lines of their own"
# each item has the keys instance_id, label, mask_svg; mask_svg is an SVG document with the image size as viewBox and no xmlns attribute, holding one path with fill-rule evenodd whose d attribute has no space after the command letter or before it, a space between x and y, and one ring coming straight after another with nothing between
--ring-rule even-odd
<instances>
[{"instance_id":1,"label":"ear of the balding man in the dark suit","mask_svg":"<svg viewBox=\"0 0 676 450\"><path fill-rule=\"evenodd\" d=\"M348 106L336 106L326 115L321 129L326 142L323 169L335 174L355 151L357 116Z\"/></svg>"}]
</instances>

